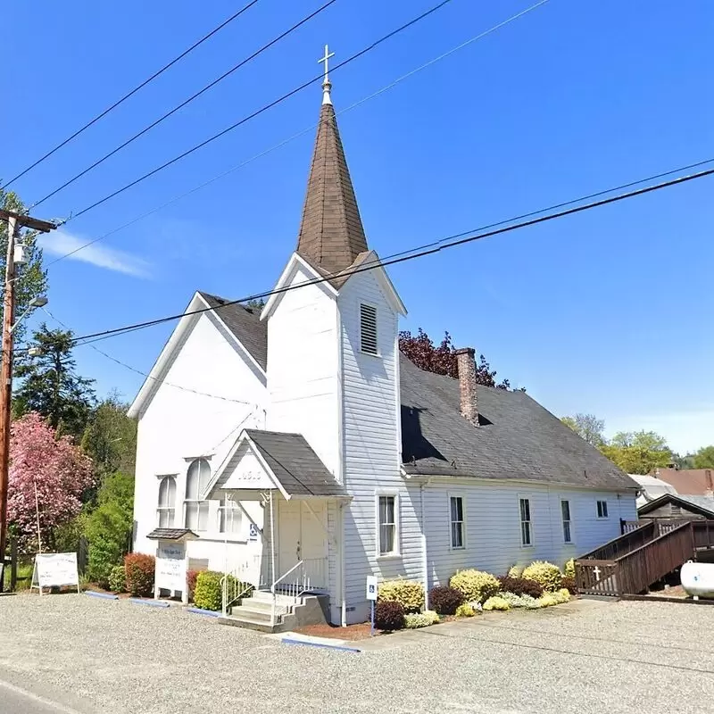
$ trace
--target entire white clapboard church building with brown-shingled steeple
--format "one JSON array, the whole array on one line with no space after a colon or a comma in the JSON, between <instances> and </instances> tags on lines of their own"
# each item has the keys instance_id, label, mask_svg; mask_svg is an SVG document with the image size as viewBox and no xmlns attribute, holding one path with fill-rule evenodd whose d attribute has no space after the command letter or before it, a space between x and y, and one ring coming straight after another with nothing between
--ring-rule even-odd
<instances>
[{"instance_id":1,"label":"entire white clapboard church building with brown-shingled steeple","mask_svg":"<svg viewBox=\"0 0 714 714\"><path fill-rule=\"evenodd\" d=\"M636 519L637 485L527 394L477 386L473 350L458 379L399 352L406 308L369 248L323 90L297 247L270 300L196 292L131 405L134 549L188 530L190 567L322 594L345 625L368 619L369 575L428 590L457 569L590 551Z\"/></svg>"}]
</instances>

